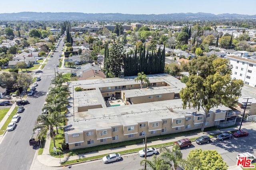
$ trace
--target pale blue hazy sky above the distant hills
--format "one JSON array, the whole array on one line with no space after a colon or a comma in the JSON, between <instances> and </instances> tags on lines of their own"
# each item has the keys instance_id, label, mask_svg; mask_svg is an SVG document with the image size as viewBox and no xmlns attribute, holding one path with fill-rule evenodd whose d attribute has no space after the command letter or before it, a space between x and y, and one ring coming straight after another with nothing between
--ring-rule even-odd
<instances>
[{"instance_id":1,"label":"pale blue hazy sky above the distant hills","mask_svg":"<svg viewBox=\"0 0 256 170\"><path fill-rule=\"evenodd\" d=\"M256 14L256 0L3 0L0 4L0 13Z\"/></svg>"}]
</instances>

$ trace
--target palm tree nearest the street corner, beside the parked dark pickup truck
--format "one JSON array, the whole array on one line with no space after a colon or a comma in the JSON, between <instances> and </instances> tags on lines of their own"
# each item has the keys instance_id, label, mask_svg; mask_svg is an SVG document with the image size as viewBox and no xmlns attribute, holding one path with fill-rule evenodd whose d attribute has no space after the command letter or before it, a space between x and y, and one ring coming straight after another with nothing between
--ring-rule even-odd
<instances>
[{"instance_id":1,"label":"palm tree nearest the street corner, beside the parked dark pickup truck","mask_svg":"<svg viewBox=\"0 0 256 170\"><path fill-rule=\"evenodd\" d=\"M33 130L41 129L41 133L43 134L46 134L47 131L50 130L54 147L56 147L54 140L54 125L56 125L56 122L51 115L39 115L36 119L36 125L34 126Z\"/></svg>"}]
</instances>

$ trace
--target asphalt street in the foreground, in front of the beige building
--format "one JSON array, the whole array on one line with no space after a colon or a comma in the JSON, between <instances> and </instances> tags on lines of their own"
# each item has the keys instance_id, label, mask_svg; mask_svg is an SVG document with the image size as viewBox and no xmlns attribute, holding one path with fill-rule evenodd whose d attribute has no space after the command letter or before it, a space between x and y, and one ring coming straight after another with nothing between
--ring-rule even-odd
<instances>
[{"instance_id":1,"label":"asphalt street in the foreground, in front of the beige building","mask_svg":"<svg viewBox=\"0 0 256 170\"><path fill-rule=\"evenodd\" d=\"M171 147L170 147L171 148ZM240 152L251 152L255 155L256 153L256 132L251 132L248 137L241 138L232 138L225 141L216 141L212 139L211 143L206 143L198 145L195 142L192 143L190 148L181 149L183 153L183 158L188 156L188 153L193 149L202 149L202 150L217 150L221 154L228 166L236 165L236 155ZM159 151L159 149L158 149ZM157 156L159 153L157 154ZM147 159L151 159L152 156L148 156ZM143 166L140 166L140 161L143 160L138 153L126 154L122 156L122 160L118 162L111 162L109 164L103 164L101 160L95 160L92 162L86 162L82 164L72 165L72 170L138 170L142 169ZM70 169L69 166L59 169Z\"/></svg>"}]
</instances>

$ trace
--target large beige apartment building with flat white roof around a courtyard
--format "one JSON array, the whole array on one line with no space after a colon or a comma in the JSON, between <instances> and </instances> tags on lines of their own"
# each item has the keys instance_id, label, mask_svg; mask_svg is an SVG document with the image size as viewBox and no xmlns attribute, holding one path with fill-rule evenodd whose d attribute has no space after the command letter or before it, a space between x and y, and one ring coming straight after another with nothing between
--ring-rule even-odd
<instances>
[{"instance_id":1,"label":"large beige apartment building with flat white roof around a courtyard","mask_svg":"<svg viewBox=\"0 0 256 170\"><path fill-rule=\"evenodd\" d=\"M204 111L183 109L179 97L185 84L168 74L148 75L150 84L140 88L134 78L104 78L69 82L70 107L65 127L69 148L80 149L148 137L200 129ZM75 92L81 87L83 91ZM113 98L122 103L106 104ZM218 125L241 114L219 106L212 108L206 127Z\"/></svg>"}]
</instances>

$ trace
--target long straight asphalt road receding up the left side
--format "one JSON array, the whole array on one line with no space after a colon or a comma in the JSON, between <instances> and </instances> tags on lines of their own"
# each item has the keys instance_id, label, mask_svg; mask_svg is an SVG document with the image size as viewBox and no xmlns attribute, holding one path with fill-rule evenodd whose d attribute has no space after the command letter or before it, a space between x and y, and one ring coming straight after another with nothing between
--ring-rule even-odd
<instances>
[{"instance_id":1,"label":"long straight asphalt road receding up the left side","mask_svg":"<svg viewBox=\"0 0 256 170\"><path fill-rule=\"evenodd\" d=\"M63 38L62 38L63 39ZM29 139L33 132L36 118L42 112L46 92L50 87L50 81L54 78L54 68L58 64L59 55L62 53L62 43L58 46L54 57L51 57L44 67L43 73L34 74L40 76L33 96L28 96L30 104L25 105L24 112L20 113L20 121L14 131L8 131L0 144L0 169L3 170L28 170L34 158L37 147L29 146Z\"/></svg>"}]
</instances>

